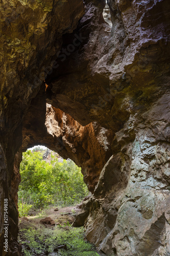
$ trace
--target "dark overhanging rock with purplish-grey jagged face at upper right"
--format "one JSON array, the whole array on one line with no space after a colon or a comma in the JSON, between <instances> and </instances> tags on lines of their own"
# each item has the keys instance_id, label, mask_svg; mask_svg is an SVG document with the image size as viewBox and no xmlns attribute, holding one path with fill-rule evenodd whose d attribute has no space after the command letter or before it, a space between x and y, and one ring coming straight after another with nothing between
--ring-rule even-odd
<instances>
[{"instance_id":1,"label":"dark overhanging rock with purplish-grey jagged face at upper right","mask_svg":"<svg viewBox=\"0 0 170 256\"><path fill-rule=\"evenodd\" d=\"M72 54L67 51L65 58L59 55L57 71L46 79L49 102L83 125L95 120L117 132L131 114L147 110L165 90L168 2L109 1L112 29L102 16L103 1L85 3L78 27L82 47ZM62 49L74 41L74 34L65 35Z\"/></svg>"}]
</instances>

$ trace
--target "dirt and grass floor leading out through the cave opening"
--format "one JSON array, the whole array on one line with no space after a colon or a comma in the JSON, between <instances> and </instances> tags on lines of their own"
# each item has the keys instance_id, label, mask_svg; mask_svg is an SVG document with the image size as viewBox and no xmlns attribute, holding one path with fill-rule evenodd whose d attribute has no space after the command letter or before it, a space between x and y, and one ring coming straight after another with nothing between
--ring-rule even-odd
<instances>
[{"instance_id":1,"label":"dirt and grass floor leading out through the cave opening","mask_svg":"<svg viewBox=\"0 0 170 256\"><path fill-rule=\"evenodd\" d=\"M54 211L56 207L45 209L36 216L19 219L18 241L22 246L23 255L26 256L98 256L95 246L85 239L83 227L72 227L76 215L80 211L78 207L64 207ZM55 226L41 224L40 220L51 217ZM55 248L66 244L67 250Z\"/></svg>"}]
</instances>

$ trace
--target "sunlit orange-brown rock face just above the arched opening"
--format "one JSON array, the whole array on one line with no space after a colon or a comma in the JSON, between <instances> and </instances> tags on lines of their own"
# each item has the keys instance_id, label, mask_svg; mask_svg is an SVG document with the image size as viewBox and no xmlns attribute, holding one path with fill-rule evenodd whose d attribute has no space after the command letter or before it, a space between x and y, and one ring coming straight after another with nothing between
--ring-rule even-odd
<instances>
[{"instance_id":1,"label":"sunlit orange-brown rock face just above the arched opening","mask_svg":"<svg viewBox=\"0 0 170 256\"><path fill-rule=\"evenodd\" d=\"M84 181L93 193L101 170L112 154L109 145L112 132L96 122L82 126L61 110L47 107L46 127L56 143L55 151L82 167Z\"/></svg>"}]
</instances>

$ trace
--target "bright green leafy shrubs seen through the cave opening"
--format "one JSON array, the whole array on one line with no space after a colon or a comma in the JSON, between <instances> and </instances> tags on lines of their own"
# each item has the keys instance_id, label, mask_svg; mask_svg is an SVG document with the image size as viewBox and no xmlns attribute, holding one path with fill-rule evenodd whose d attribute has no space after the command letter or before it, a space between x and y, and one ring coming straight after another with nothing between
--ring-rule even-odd
<instances>
[{"instance_id":1,"label":"bright green leafy shrubs seen through the cave opening","mask_svg":"<svg viewBox=\"0 0 170 256\"><path fill-rule=\"evenodd\" d=\"M47 162L43 160L44 152L28 150L23 153L18 191L19 217L27 216L31 209L43 209L49 205L76 205L88 195L80 167L71 160L59 162L56 153L52 153L50 162Z\"/></svg>"}]
</instances>

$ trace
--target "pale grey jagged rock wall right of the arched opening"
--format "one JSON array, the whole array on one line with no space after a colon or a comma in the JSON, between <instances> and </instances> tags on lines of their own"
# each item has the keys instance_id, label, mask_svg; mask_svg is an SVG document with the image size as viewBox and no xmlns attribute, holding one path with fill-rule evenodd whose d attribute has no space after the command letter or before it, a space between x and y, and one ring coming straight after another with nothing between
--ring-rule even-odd
<instances>
[{"instance_id":1,"label":"pale grey jagged rock wall right of the arched opening","mask_svg":"<svg viewBox=\"0 0 170 256\"><path fill-rule=\"evenodd\" d=\"M103 168L86 219L87 239L106 255L169 254L169 96L116 133L121 149Z\"/></svg>"}]
</instances>

